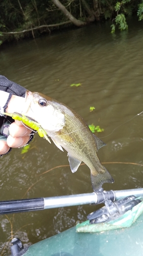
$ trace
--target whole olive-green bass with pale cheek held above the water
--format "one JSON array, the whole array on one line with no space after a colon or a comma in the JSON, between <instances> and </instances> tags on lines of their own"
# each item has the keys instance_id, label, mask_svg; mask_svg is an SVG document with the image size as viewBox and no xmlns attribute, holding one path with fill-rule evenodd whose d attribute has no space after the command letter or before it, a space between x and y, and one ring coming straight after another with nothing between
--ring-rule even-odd
<instances>
[{"instance_id":1,"label":"whole olive-green bass with pale cheek held above the water","mask_svg":"<svg viewBox=\"0 0 143 256\"><path fill-rule=\"evenodd\" d=\"M62 102L37 92L26 92L26 108L22 113L40 123L56 146L68 152L72 172L81 161L91 170L94 191L103 183L113 183L113 178L101 164L97 151L105 143L97 138L81 116Z\"/></svg>"}]
</instances>

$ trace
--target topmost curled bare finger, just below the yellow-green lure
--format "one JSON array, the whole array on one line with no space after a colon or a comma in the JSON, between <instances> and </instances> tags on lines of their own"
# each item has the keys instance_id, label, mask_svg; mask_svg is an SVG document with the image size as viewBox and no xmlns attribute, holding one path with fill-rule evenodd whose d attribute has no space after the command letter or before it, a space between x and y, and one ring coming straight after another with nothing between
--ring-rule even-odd
<instances>
[{"instance_id":1,"label":"topmost curled bare finger, just below the yellow-green lure","mask_svg":"<svg viewBox=\"0 0 143 256\"><path fill-rule=\"evenodd\" d=\"M22 123L21 125L18 125L16 122L13 122L9 127L9 133L12 137L21 137L30 135L31 130L25 127Z\"/></svg>"}]
</instances>

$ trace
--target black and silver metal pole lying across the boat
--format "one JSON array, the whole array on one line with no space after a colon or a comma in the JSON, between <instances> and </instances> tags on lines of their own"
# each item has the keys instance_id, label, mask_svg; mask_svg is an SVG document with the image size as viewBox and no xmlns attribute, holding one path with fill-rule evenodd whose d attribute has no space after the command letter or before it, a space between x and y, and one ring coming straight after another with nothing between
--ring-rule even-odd
<instances>
[{"instance_id":1,"label":"black and silver metal pole lying across the boat","mask_svg":"<svg viewBox=\"0 0 143 256\"><path fill-rule=\"evenodd\" d=\"M2 201L0 202L0 215L84 204L100 204L107 199L116 201L131 195L143 196L143 188L108 191L101 189L87 194Z\"/></svg>"}]
</instances>

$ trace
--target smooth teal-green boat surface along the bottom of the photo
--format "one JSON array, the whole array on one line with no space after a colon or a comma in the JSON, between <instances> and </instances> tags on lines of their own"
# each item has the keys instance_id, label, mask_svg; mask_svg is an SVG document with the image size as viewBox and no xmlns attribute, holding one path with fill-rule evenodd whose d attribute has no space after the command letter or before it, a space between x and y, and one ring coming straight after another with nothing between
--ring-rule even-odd
<instances>
[{"instance_id":1,"label":"smooth teal-green boat surface along the bottom of the photo","mask_svg":"<svg viewBox=\"0 0 143 256\"><path fill-rule=\"evenodd\" d=\"M143 214L128 228L76 233L72 227L28 248L24 256L142 256Z\"/></svg>"}]
</instances>

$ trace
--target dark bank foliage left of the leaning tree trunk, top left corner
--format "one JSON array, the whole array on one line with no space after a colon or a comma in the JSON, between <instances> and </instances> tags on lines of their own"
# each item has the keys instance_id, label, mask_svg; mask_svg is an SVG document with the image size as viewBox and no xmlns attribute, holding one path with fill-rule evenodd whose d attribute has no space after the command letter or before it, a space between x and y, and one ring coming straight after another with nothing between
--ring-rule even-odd
<instances>
[{"instance_id":1,"label":"dark bank foliage left of the leaning tree trunk, top left corner","mask_svg":"<svg viewBox=\"0 0 143 256\"><path fill-rule=\"evenodd\" d=\"M67 4L68 0L64 3ZM56 24L67 21L65 15L58 10L52 3L47 0L1 0L0 1L0 24L2 25L0 31L3 32L3 41L20 39L22 37L37 37L42 33L50 33L51 27L40 28L38 30L31 30L32 28ZM59 28L59 27L58 27ZM11 33L9 32L21 32L24 33Z\"/></svg>"}]
</instances>

